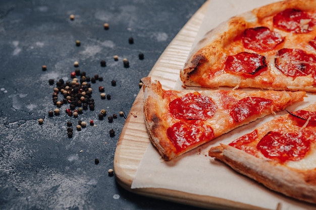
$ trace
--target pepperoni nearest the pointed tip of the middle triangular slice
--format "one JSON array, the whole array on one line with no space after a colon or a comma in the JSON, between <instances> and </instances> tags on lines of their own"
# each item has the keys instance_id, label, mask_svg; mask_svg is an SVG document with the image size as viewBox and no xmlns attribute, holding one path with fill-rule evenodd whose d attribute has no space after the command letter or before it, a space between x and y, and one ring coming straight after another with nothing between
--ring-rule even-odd
<instances>
[{"instance_id":1,"label":"pepperoni nearest the pointed tip of the middle triangular slice","mask_svg":"<svg viewBox=\"0 0 316 210\"><path fill-rule=\"evenodd\" d=\"M241 122L251 115L260 113L272 103L273 101L271 99L260 97L243 98L232 106L230 116L236 122Z\"/></svg>"}]
</instances>

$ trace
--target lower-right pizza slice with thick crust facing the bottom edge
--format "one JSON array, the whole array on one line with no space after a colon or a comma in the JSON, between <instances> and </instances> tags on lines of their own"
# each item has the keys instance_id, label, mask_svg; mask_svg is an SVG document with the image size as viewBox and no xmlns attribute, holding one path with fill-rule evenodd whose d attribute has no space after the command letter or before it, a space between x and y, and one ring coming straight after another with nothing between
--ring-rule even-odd
<instances>
[{"instance_id":1,"label":"lower-right pizza slice with thick crust facing the bottom edge","mask_svg":"<svg viewBox=\"0 0 316 210\"><path fill-rule=\"evenodd\" d=\"M208 155L272 190L316 203L316 103L210 148Z\"/></svg>"}]
</instances>

